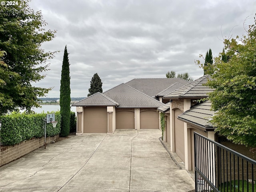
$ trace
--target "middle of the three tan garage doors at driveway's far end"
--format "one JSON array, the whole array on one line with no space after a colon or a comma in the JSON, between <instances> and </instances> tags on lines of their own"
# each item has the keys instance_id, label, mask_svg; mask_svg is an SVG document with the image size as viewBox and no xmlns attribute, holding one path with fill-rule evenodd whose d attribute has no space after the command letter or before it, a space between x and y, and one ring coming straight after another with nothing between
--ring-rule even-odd
<instances>
[{"instance_id":1,"label":"middle of the three tan garage doors at driveway's far end","mask_svg":"<svg viewBox=\"0 0 256 192\"><path fill-rule=\"evenodd\" d=\"M116 111L116 129L135 129L134 111Z\"/></svg>"}]
</instances>

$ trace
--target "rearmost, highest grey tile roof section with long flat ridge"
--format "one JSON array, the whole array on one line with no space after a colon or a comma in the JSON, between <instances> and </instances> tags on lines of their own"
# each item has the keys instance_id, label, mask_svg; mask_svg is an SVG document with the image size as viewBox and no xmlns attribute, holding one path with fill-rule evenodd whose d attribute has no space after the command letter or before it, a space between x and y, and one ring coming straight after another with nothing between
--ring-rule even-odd
<instances>
[{"instance_id":1,"label":"rearmost, highest grey tile roof section with long flat ridge","mask_svg":"<svg viewBox=\"0 0 256 192\"><path fill-rule=\"evenodd\" d=\"M158 93L174 83L186 85L189 82L181 78L136 78L125 84L154 98Z\"/></svg>"}]
</instances>

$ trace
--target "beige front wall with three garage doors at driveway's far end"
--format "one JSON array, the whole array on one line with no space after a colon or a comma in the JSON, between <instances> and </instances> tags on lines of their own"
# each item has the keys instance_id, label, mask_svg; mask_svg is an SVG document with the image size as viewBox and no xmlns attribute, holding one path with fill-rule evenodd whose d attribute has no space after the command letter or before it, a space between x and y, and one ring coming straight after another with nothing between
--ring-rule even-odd
<instances>
[{"instance_id":1,"label":"beige front wall with three garage doors at driveway's far end","mask_svg":"<svg viewBox=\"0 0 256 192\"><path fill-rule=\"evenodd\" d=\"M77 131L113 134L116 129L159 129L154 108L116 108L115 106L77 106ZM142 117L142 118L141 118Z\"/></svg>"}]
</instances>

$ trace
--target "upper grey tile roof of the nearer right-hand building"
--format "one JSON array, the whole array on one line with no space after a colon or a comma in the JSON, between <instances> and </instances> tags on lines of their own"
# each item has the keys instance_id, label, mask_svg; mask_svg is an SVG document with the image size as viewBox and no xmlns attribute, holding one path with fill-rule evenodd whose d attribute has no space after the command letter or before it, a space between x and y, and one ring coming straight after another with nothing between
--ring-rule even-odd
<instances>
[{"instance_id":1,"label":"upper grey tile roof of the nearer right-hand building","mask_svg":"<svg viewBox=\"0 0 256 192\"><path fill-rule=\"evenodd\" d=\"M206 98L208 97L207 93L212 92L213 90L206 84L208 80L212 80L210 75L204 75L201 78L194 80L185 86L167 94L163 98Z\"/></svg>"}]
</instances>

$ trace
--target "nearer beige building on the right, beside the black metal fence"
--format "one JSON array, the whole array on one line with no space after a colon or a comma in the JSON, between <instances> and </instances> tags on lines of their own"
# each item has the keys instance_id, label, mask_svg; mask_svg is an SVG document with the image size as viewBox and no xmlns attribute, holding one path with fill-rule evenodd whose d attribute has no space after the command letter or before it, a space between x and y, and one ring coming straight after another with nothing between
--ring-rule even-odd
<instances>
[{"instance_id":1,"label":"nearer beige building on the right, beside the black metal fence","mask_svg":"<svg viewBox=\"0 0 256 192\"><path fill-rule=\"evenodd\" d=\"M160 106L158 111L163 112L166 116L166 130L164 132L164 141L170 145L172 152L176 152L178 156L185 163L185 168L187 170L192 170L194 162L193 158L193 133L199 132L204 136L214 140L214 129L206 129L204 123L208 120L207 118L211 114L202 114L201 117L205 116L204 123L198 126L191 126L186 121L182 121L182 118L178 118L182 114L186 114L187 110L190 110L192 106L197 104L197 100L202 98L207 98L208 93L213 90L204 84L212 80L209 75L204 75L193 82L190 82L175 91L163 96L164 100L169 100L170 102ZM210 106L207 106L210 107ZM195 113L198 109L194 109ZM204 110L202 110L204 111ZM192 114L191 112L190 114ZM199 114L199 113L198 113Z\"/></svg>"}]
</instances>

